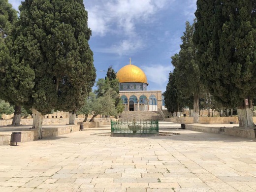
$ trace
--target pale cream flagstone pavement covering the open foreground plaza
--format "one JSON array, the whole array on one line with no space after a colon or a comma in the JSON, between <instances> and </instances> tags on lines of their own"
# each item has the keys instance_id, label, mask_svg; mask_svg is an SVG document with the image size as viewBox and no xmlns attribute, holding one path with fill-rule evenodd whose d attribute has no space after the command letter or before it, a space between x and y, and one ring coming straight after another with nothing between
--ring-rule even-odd
<instances>
[{"instance_id":1,"label":"pale cream flagstone pavement covering the open foreground plaza","mask_svg":"<svg viewBox=\"0 0 256 192\"><path fill-rule=\"evenodd\" d=\"M84 130L0 146L0 192L256 192L256 140L161 128L180 135Z\"/></svg>"}]
</instances>

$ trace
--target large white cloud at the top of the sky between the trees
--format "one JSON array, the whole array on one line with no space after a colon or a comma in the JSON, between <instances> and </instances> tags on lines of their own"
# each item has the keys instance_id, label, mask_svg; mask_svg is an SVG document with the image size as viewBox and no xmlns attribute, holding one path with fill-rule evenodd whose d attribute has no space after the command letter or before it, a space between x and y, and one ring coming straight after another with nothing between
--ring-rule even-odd
<instances>
[{"instance_id":1,"label":"large white cloud at the top of the sky between the trees","mask_svg":"<svg viewBox=\"0 0 256 192\"><path fill-rule=\"evenodd\" d=\"M134 35L135 24L150 22L151 16L162 9L168 0L96 0L101 6L86 6L88 26L95 35L105 35L118 30ZM170 3L170 1L168 2Z\"/></svg>"}]
</instances>

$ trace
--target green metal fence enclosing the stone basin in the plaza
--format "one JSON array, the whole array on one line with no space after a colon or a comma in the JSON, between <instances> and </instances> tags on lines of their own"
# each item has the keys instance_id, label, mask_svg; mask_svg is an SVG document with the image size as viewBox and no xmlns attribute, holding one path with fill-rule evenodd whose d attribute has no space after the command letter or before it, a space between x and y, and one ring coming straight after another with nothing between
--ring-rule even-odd
<instances>
[{"instance_id":1,"label":"green metal fence enclosing the stone basin in the plaza","mask_svg":"<svg viewBox=\"0 0 256 192\"><path fill-rule=\"evenodd\" d=\"M158 133L158 120L111 121L112 133Z\"/></svg>"}]
</instances>

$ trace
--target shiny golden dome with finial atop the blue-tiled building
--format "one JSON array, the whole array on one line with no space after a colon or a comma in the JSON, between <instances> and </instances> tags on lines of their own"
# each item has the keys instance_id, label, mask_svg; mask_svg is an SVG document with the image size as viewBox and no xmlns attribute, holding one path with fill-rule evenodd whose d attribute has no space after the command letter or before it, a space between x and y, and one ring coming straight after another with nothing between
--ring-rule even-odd
<instances>
[{"instance_id":1,"label":"shiny golden dome with finial atop the blue-tiled building","mask_svg":"<svg viewBox=\"0 0 256 192\"><path fill-rule=\"evenodd\" d=\"M117 79L119 80L119 83L136 82L146 83L148 85L147 77L143 70L133 64L128 64L122 67L117 72Z\"/></svg>"}]
</instances>

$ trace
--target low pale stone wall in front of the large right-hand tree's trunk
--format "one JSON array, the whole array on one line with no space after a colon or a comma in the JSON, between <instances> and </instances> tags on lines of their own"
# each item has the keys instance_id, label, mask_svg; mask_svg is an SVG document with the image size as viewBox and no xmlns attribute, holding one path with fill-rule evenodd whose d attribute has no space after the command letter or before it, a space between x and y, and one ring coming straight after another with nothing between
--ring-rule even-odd
<instances>
[{"instance_id":1,"label":"low pale stone wall in front of the large right-hand tree's trunk","mask_svg":"<svg viewBox=\"0 0 256 192\"><path fill-rule=\"evenodd\" d=\"M197 126L197 125L186 125L186 129L199 131L199 132L211 132L211 133L216 133L216 134L243 137L243 138L251 138L251 139L256 138L255 131L253 128L250 128L250 129L249 128L239 128L239 127L216 128L216 127L203 127L203 126Z\"/></svg>"}]
</instances>

